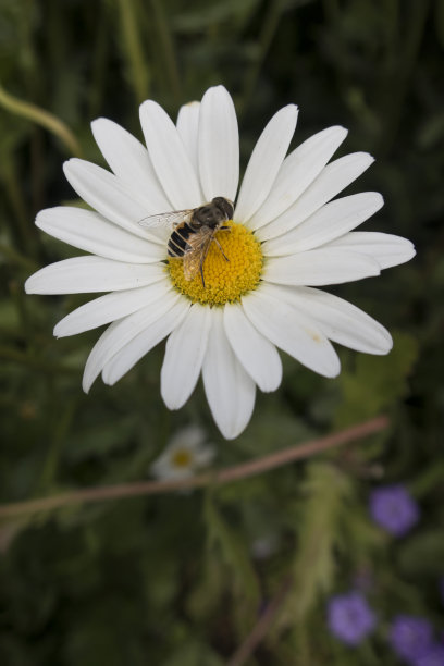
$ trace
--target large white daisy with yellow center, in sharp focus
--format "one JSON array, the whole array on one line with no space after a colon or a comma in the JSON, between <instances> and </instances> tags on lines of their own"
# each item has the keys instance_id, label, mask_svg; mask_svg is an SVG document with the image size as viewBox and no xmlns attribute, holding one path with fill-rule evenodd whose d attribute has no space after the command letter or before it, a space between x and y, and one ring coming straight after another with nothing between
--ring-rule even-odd
<instances>
[{"instance_id":1,"label":"large white daisy with yellow center, in sharp focus","mask_svg":"<svg viewBox=\"0 0 444 666\"><path fill-rule=\"evenodd\" d=\"M41 211L39 229L90 252L48 266L26 282L29 294L100 293L54 329L58 337L111 324L92 348L83 387L101 373L114 384L168 337L160 390L170 409L192 395L202 373L219 429L236 437L247 425L256 386L281 383L278 348L333 378L340 360L331 341L387 354L390 333L349 303L319 286L379 275L414 257L398 236L355 232L383 203L367 192L332 200L372 162L366 152L328 163L344 127L319 132L287 153L297 107L270 120L252 151L240 188L239 137L232 98L210 88L181 108L177 123L152 100L140 107L146 147L107 119L92 133L111 171L79 159L66 178L94 210ZM236 201L230 233L218 232L200 275L186 280L168 258L171 229L140 220L193 209L214 197ZM237 199L236 199L237 197Z\"/></svg>"}]
</instances>

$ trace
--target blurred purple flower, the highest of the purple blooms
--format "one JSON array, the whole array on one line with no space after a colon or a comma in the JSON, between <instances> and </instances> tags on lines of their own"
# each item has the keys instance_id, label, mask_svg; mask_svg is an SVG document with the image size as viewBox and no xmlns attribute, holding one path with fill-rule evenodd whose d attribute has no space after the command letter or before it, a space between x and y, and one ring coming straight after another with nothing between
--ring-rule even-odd
<instances>
[{"instance_id":1,"label":"blurred purple flower, the highest of the purple blooms","mask_svg":"<svg viewBox=\"0 0 444 666\"><path fill-rule=\"evenodd\" d=\"M370 515L384 530L403 536L418 522L419 507L403 485L385 485L371 493Z\"/></svg>"}]
</instances>

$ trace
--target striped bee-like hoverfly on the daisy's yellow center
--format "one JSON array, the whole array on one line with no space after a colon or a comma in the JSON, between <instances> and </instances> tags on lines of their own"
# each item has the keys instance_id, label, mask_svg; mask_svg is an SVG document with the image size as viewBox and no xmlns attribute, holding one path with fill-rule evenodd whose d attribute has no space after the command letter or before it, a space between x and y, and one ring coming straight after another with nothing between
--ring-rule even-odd
<instances>
[{"instance_id":1,"label":"striped bee-like hoverfly on the daisy's yellow center","mask_svg":"<svg viewBox=\"0 0 444 666\"><path fill-rule=\"evenodd\" d=\"M172 225L173 232L168 242L169 257L183 259L185 280L193 280L199 271L205 288L203 263L211 243L215 243L224 259L230 261L214 234L218 231L230 232L230 226L224 223L233 219L233 212L234 206L230 199L214 197L198 208L149 215L139 224L147 227Z\"/></svg>"}]
</instances>

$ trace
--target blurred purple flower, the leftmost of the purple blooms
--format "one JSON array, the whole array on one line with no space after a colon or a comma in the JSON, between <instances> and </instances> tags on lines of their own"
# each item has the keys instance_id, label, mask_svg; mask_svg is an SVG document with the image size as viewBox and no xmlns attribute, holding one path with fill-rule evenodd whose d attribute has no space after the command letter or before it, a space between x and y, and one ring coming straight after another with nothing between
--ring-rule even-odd
<instances>
[{"instance_id":1,"label":"blurred purple flower, the leftmost of the purple blooms","mask_svg":"<svg viewBox=\"0 0 444 666\"><path fill-rule=\"evenodd\" d=\"M373 631L377 618L358 592L333 596L328 606L330 631L348 645L357 645Z\"/></svg>"}]
</instances>

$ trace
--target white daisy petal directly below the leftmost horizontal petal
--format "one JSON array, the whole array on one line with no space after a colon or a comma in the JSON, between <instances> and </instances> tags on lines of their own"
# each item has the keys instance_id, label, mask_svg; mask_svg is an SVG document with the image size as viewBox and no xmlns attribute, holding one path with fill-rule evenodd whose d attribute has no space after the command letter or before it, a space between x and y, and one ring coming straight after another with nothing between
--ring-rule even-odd
<instances>
[{"instance_id":1,"label":"white daisy petal directly below the leftmost horizontal petal","mask_svg":"<svg viewBox=\"0 0 444 666\"><path fill-rule=\"evenodd\" d=\"M149 286L106 294L86 303L59 321L54 335L76 335L140 310L168 291L163 278L159 276L157 281L153 279L155 284Z\"/></svg>"}]
</instances>

